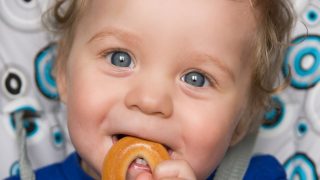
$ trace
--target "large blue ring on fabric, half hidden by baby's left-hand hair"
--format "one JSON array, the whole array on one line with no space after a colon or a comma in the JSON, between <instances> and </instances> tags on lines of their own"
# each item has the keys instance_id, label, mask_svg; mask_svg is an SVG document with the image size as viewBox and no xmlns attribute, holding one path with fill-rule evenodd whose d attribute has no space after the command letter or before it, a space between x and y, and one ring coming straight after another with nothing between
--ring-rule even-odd
<instances>
[{"instance_id":1,"label":"large blue ring on fabric, half hidden by baby's left-hand hair","mask_svg":"<svg viewBox=\"0 0 320 180\"><path fill-rule=\"evenodd\" d=\"M35 79L40 92L52 100L58 99L58 91L55 78L52 76L53 63L55 61L55 44L49 44L36 56Z\"/></svg>"}]
</instances>

